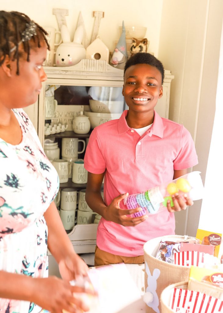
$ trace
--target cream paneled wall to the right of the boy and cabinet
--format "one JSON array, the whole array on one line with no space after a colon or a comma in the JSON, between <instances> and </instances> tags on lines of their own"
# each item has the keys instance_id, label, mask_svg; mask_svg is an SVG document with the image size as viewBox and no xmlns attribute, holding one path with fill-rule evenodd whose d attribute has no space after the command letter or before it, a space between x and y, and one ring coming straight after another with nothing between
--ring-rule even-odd
<instances>
[{"instance_id":1,"label":"cream paneled wall to the right of the boy and cabinet","mask_svg":"<svg viewBox=\"0 0 223 313\"><path fill-rule=\"evenodd\" d=\"M222 12L221 0L163 1L158 57L175 76L169 118L191 132L199 159L193 170L201 171L203 182L215 115ZM176 232L196 235L200 211L201 200L176 213Z\"/></svg>"}]
</instances>

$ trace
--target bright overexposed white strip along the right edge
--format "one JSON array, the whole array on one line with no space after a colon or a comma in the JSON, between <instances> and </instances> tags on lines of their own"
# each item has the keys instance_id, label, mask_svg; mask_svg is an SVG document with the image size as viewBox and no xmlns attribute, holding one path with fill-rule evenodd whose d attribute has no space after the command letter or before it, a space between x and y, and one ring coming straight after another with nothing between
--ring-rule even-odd
<instances>
[{"instance_id":1,"label":"bright overexposed white strip along the right edge","mask_svg":"<svg viewBox=\"0 0 223 313\"><path fill-rule=\"evenodd\" d=\"M223 146L219 144L223 135L222 116L223 116L223 24L221 33L221 50L219 60L218 85L216 93L216 115L211 138L210 153L208 157L206 179L205 179L205 195L201 206L201 218L199 228L222 233L223 212L221 208L222 202L222 163ZM207 218L208 217L208 218ZM210 225L213 227L210 228Z\"/></svg>"}]
</instances>

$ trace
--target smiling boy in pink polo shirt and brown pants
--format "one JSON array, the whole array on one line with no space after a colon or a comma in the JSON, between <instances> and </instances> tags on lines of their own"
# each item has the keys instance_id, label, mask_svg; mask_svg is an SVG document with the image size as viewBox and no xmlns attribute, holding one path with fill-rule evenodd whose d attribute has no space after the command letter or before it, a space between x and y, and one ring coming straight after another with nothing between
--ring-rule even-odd
<instances>
[{"instance_id":1,"label":"smiling boy in pink polo shirt and brown pants","mask_svg":"<svg viewBox=\"0 0 223 313\"><path fill-rule=\"evenodd\" d=\"M197 155L184 126L161 118L154 110L162 97L164 68L149 53L134 54L125 65L122 95L128 110L120 119L97 126L87 145L86 201L102 215L97 230L95 265L143 263L143 244L172 235L175 211L193 202L179 194L156 214L129 217L141 208L127 210L123 198L143 192L187 173ZM104 201L101 186L104 179Z\"/></svg>"}]
</instances>

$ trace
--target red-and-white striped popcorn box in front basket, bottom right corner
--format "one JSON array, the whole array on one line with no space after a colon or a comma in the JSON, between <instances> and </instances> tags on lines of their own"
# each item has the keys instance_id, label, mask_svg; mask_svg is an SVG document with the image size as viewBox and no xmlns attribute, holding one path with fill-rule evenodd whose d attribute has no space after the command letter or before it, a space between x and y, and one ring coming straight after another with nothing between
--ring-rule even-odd
<instances>
[{"instance_id":1,"label":"red-and-white striped popcorn box in front basket, bottom right corner","mask_svg":"<svg viewBox=\"0 0 223 313\"><path fill-rule=\"evenodd\" d=\"M174 288L170 307L178 313L222 313L223 301L198 291Z\"/></svg>"}]
</instances>

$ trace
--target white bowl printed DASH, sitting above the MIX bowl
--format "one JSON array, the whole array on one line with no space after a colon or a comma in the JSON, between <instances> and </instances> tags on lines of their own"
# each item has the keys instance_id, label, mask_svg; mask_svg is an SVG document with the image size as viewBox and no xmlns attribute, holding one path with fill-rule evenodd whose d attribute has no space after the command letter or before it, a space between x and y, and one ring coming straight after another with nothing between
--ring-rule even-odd
<instances>
[{"instance_id":1,"label":"white bowl printed DASH, sitting above the MIX bowl","mask_svg":"<svg viewBox=\"0 0 223 313\"><path fill-rule=\"evenodd\" d=\"M96 113L122 113L124 110L124 100L122 101L98 101L89 100L92 112Z\"/></svg>"}]
</instances>

